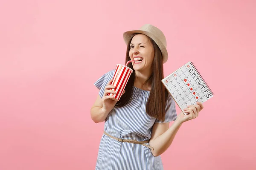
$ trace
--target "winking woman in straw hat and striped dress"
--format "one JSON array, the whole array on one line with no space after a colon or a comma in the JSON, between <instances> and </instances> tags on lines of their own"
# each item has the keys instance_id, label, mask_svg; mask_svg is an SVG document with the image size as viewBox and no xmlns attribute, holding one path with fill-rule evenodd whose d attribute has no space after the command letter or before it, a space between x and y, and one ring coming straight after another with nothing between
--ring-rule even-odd
<instances>
[{"instance_id":1,"label":"winking woman in straw hat and striped dress","mask_svg":"<svg viewBox=\"0 0 256 170\"><path fill-rule=\"evenodd\" d=\"M99 95L91 108L94 122L105 121L96 170L162 170L160 155L172 144L183 122L198 116L203 105L190 105L177 116L175 102L164 88L163 63L168 59L166 38L157 27L146 24L123 34L126 62L133 73L118 102L110 90L114 70L94 85ZM169 127L169 122L174 121Z\"/></svg>"}]
</instances>

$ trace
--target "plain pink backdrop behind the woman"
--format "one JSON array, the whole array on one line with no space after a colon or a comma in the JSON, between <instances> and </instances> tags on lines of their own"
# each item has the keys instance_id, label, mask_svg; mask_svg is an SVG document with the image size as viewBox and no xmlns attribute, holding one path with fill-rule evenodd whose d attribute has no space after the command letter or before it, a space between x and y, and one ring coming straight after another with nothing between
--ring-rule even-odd
<instances>
[{"instance_id":1,"label":"plain pink backdrop behind the woman","mask_svg":"<svg viewBox=\"0 0 256 170\"><path fill-rule=\"evenodd\" d=\"M195 62L215 94L180 128L164 168L255 169L255 7L253 0L1 0L0 169L95 168L104 123L90 118L93 82L124 64L122 33L145 23L166 35L165 76Z\"/></svg>"}]
</instances>

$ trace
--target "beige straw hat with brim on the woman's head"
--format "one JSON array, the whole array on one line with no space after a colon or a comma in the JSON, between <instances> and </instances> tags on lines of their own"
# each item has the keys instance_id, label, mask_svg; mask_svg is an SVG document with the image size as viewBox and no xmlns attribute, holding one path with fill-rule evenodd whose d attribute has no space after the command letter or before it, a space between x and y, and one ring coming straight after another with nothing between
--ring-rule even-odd
<instances>
[{"instance_id":1,"label":"beige straw hat with brim on the woman's head","mask_svg":"<svg viewBox=\"0 0 256 170\"><path fill-rule=\"evenodd\" d=\"M160 48L163 56L163 63L165 63L168 59L168 52L166 50L166 37L164 36L163 32L158 29L155 26L152 26L151 24L145 24L140 28L140 30L132 30L132 31L126 31L123 34L123 38L125 40L126 45L128 45L128 42L131 40L131 36L135 33L141 33L145 34L148 37L150 37L158 47Z\"/></svg>"}]
</instances>

